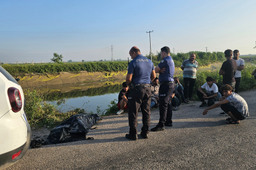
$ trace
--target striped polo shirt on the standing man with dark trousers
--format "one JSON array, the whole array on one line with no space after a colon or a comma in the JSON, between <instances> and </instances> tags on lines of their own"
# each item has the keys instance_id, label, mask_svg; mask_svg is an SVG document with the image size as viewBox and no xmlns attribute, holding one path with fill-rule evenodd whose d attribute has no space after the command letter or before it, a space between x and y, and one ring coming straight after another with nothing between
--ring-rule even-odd
<instances>
[{"instance_id":1,"label":"striped polo shirt on the standing man with dark trousers","mask_svg":"<svg viewBox=\"0 0 256 170\"><path fill-rule=\"evenodd\" d=\"M194 62L191 62L189 59L184 60L182 62L182 67L184 68L183 78L197 78L198 62L196 60L194 60Z\"/></svg>"}]
</instances>

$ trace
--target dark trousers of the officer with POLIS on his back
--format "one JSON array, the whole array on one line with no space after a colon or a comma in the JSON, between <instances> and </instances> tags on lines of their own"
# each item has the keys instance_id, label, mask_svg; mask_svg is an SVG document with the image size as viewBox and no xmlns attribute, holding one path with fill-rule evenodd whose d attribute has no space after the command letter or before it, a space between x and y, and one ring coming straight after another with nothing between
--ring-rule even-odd
<instances>
[{"instance_id":1,"label":"dark trousers of the officer with POLIS on his back","mask_svg":"<svg viewBox=\"0 0 256 170\"><path fill-rule=\"evenodd\" d=\"M149 133L151 91L151 86L135 86L134 89L130 89L128 97L130 135L137 134L137 115L139 108L141 108L143 114L143 127L141 128L141 131L144 134Z\"/></svg>"}]
</instances>

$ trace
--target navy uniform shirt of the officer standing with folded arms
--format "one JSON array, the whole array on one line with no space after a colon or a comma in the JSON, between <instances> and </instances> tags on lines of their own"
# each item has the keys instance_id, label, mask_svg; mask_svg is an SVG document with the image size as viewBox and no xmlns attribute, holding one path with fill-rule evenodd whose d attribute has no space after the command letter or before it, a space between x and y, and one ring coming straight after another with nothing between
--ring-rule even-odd
<instances>
[{"instance_id":1,"label":"navy uniform shirt of the officer standing with folded arms","mask_svg":"<svg viewBox=\"0 0 256 170\"><path fill-rule=\"evenodd\" d=\"M174 81L173 74L174 74L175 66L174 66L173 59L170 55L163 58L163 60L161 60L160 64L158 64L158 67L160 69L163 69L163 67L165 67L165 72L161 72L159 74L159 82Z\"/></svg>"}]
</instances>

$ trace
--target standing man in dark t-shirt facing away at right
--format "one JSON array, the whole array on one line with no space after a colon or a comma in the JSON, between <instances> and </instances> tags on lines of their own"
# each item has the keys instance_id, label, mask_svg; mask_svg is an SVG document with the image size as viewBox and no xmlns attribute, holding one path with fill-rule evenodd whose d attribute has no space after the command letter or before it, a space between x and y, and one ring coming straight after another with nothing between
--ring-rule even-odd
<instances>
[{"instance_id":1,"label":"standing man in dark t-shirt facing away at right","mask_svg":"<svg viewBox=\"0 0 256 170\"><path fill-rule=\"evenodd\" d=\"M219 70L219 75L223 75L223 86L228 84L232 87L232 91L235 91L235 74L237 70L237 64L235 60L232 59L233 51L226 50L224 52L226 61L223 62L221 69Z\"/></svg>"}]
</instances>

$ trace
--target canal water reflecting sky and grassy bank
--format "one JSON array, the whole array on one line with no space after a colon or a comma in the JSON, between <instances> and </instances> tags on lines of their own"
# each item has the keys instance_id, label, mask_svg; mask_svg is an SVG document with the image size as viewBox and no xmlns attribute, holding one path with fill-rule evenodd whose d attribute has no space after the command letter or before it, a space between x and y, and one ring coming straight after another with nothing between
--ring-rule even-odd
<instances>
[{"instance_id":1,"label":"canal water reflecting sky and grassy bank","mask_svg":"<svg viewBox=\"0 0 256 170\"><path fill-rule=\"evenodd\" d=\"M79 88L81 86L83 88ZM122 82L62 84L59 89L57 87L47 86L46 90L45 87L38 89L44 92L46 101L57 105L62 112L83 108L88 112L96 113L97 106L100 110L105 110L110 105L110 101L118 98Z\"/></svg>"}]
</instances>

